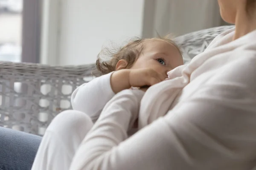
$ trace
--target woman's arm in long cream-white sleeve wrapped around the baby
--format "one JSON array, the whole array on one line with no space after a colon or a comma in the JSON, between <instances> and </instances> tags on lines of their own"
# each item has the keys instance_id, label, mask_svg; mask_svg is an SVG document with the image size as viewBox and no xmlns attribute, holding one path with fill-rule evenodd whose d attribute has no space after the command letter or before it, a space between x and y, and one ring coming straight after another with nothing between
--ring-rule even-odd
<instances>
[{"instance_id":1,"label":"woman's arm in long cream-white sleeve wrapped around the baby","mask_svg":"<svg viewBox=\"0 0 256 170\"><path fill-rule=\"evenodd\" d=\"M126 100L111 99L81 144L70 170L253 168L255 77L255 57L238 59L227 70L219 70L165 117L127 140L128 119L137 109L140 97L120 92L119 98L124 95Z\"/></svg>"}]
</instances>

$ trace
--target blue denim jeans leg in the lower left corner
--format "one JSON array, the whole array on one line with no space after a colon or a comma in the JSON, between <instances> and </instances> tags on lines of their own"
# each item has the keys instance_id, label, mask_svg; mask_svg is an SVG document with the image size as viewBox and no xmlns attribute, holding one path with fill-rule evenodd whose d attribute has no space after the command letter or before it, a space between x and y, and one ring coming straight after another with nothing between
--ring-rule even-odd
<instances>
[{"instance_id":1,"label":"blue denim jeans leg in the lower left corner","mask_svg":"<svg viewBox=\"0 0 256 170\"><path fill-rule=\"evenodd\" d=\"M31 170L41 137L0 127L0 170Z\"/></svg>"}]
</instances>

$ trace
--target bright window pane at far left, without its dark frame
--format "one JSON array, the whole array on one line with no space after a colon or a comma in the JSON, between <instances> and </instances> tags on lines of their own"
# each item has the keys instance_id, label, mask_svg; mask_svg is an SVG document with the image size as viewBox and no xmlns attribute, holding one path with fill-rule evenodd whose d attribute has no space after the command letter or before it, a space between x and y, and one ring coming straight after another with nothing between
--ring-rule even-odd
<instances>
[{"instance_id":1,"label":"bright window pane at far left, without its dark frame","mask_svg":"<svg viewBox=\"0 0 256 170\"><path fill-rule=\"evenodd\" d=\"M21 61L22 0L0 0L0 60Z\"/></svg>"}]
</instances>

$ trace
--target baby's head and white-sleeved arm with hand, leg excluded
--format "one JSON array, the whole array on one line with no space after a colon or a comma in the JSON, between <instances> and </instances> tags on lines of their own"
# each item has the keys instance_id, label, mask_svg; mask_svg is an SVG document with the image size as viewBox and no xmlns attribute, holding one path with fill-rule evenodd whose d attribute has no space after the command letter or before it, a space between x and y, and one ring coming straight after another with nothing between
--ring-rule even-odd
<instances>
[{"instance_id":1,"label":"baby's head and white-sleeved arm with hand, leg excluded","mask_svg":"<svg viewBox=\"0 0 256 170\"><path fill-rule=\"evenodd\" d=\"M84 83L71 96L74 110L86 113L95 122L105 104L118 92L132 87L146 91L168 78L167 72L183 65L182 54L167 38L140 39L129 42L116 53L96 61L100 77Z\"/></svg>"}]
</instances>

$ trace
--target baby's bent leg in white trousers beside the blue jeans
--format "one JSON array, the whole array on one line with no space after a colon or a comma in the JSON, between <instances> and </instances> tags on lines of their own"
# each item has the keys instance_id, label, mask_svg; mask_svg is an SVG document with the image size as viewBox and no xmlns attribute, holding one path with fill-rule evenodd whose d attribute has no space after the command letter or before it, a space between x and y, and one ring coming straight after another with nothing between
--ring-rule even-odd
<instances>
[{"instance_id":1,"label":"baby's bent leg in white trousers beside the blue jeans","mask_svg":"<svg viewBox=\"0 0 256 170\"><path fill-rule=\"evenodd\" d=\"M59 113L44 134L32 170L68 170L92 126L90 117L80 111Z\"/></svg>"}]
</instances>

